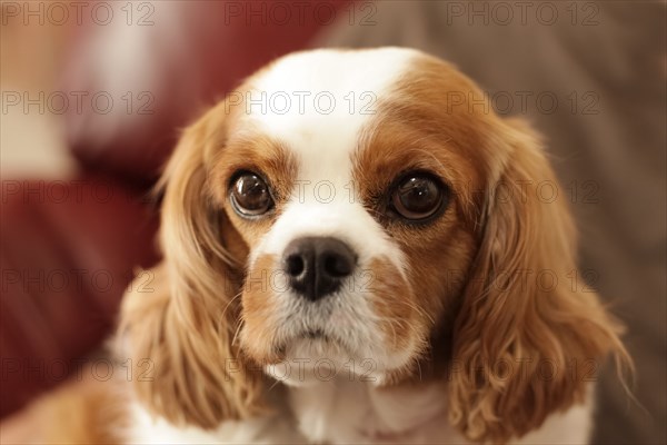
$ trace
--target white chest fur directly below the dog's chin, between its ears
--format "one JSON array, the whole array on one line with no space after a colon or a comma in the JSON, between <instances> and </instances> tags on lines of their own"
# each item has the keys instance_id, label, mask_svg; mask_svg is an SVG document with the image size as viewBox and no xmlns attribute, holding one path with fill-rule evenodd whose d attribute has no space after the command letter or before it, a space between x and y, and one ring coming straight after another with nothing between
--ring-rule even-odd
<instances>
[{"instance_id":1,"label":"white chest fur directly below the dog's chin, between its ears","mask_svg":"<svg viewBox=\"0 0 667 445\"><path fill-rule=\"evenodd\" d=\"M290 387L290 404L309 441L326 443L429 442L451 437L440 384L377 387L339 378Z\"/></svg>"}]
</instances>

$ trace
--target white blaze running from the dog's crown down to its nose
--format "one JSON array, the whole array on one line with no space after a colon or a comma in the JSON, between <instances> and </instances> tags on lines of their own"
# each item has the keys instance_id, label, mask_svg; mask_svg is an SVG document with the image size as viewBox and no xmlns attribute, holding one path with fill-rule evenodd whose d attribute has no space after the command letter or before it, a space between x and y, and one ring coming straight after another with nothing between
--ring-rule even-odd
<instances>
[{"instance_id":1,"label":"white blaze running from the dog's crown down to its nose","mask_svg":"<svg viewBox=\"0 0 667 445\"><path fill-rule=\"evenodd\" d=\"M280 256L301 236L338 237L355 248L360 264L375 256L401 263L399 249L355 196L351 155L378 101L418 55L402 48L299 52L252 80L246 119L295 155L298 177L290 202L251 263L261 254Z\"/></svg>"}]
</instances>

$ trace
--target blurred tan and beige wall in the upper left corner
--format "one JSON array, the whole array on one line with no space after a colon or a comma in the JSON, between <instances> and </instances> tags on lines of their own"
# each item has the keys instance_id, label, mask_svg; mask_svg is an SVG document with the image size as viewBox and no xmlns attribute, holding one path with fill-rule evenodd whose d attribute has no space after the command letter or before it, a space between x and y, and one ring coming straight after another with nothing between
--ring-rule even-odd
<instances>
[{"instance_id":1,"label":"blurred tan and beige wall in the upper left corner","mask_svg":"<svg viewBox=\"0 0 667 445\"><path fill-rule=\"evenodd\" d=\"M34 2L33 4L36 4ZM23 2L3 1L0 17L0 175L2 178L59 178L71 175L62 116L40 113L39 106L24 110L11 106L17 96L39 99L58 91L68 38L73 29L39 17L13 16ZM27 20L28 19L28 20ZM28 23L26 23L28 21Z\"/></svg>"}]
</instances>

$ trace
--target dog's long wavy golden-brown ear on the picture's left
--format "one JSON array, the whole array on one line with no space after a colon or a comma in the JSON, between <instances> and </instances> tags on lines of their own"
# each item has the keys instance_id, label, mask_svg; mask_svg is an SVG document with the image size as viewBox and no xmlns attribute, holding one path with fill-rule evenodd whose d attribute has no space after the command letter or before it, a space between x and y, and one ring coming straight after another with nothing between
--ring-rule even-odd
<instances>
[{"instance_id":1,"label":"dog's long wavy golden-brown ear on the picture's left","mask_svg":"<svg viewBox=\"0 0 667 445\"><path fill-rule=\"evenodd\" d=\"M126 295L118 336L133 363L148 369L132 383L138 399L173 424L202 428L261 409L261 376L232 345L245 258L226 248L222 226L233 228L207 187L207 166L223 145L222 110L189 127L167 165L160 181L165 259L147 286Z\"/></svg>"}]
</instances>

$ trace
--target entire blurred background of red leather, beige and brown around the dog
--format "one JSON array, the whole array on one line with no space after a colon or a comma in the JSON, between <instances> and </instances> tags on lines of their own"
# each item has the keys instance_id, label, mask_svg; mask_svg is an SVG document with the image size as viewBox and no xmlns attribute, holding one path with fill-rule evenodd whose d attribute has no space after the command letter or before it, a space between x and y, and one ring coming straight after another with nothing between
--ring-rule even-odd
<instances>
[{"instance_id":1,"label":"entire blurred background of red leather, beige and brown around the dog","mask_svg":"<svg viewBox=\"0 0 667 445\"><path fill-rule=\"evenodd\" d=\"M145 194L179 128L285 52L396 44L547 137L637 363L640 406L603 372L595 442L667 443L665 2L82 3L0 3L3 416L99 348L157 259Z\"/></svg>"}]
</instances>

